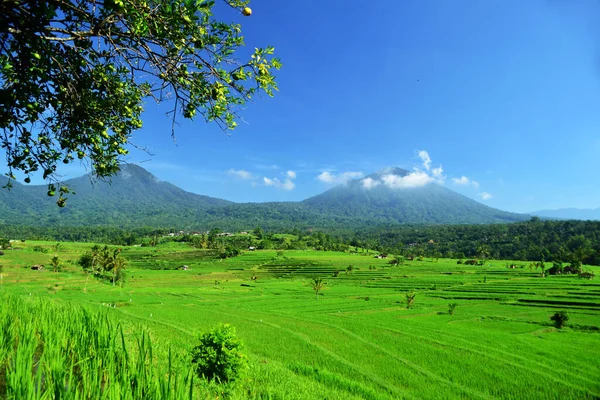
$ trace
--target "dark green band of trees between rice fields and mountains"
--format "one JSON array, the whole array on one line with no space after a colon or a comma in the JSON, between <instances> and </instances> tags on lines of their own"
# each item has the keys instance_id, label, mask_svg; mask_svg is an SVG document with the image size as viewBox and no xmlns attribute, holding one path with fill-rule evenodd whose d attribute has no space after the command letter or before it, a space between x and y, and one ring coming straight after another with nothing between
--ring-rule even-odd
<instances>
[{"instance_id":1,"label":"dark green band of trees between rice fields and mountains","mask_svg":"<svg viewBox=\"0 0 600 400\"><path fill-rule=\"evenodd\" d=\"M397 255L446 258L493 258L600 265L599 221L543 221L488 225L379 225L358 230L288 228L248 235L209 232L179 234L176 228L0 226L0 237L29 240L96 242L155 246L164 241L188 242L218 249L225 257L249 247L275 250L370 249ZM174 236L169 236L173 234ZM287 235L286 235L287 234ZM235 251L234 251L235 250Z\"/></svg>"}]
</instances>

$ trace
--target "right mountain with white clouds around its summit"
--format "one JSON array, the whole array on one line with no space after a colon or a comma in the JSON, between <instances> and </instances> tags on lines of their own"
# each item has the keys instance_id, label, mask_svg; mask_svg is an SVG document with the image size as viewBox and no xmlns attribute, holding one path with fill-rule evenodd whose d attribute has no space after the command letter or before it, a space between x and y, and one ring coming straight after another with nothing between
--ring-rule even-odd
<instances>
[{"instance_id":1,"label":"right mountain with white clouds around its summit","mask_svg":"<svg viewBox=\"0 0 600 400\"><path fill-rule=\"evenodd\" d=\"M380 223L479 224L528 218L488 207L433 182L410 187L414 184L411 178L419 176L401 168L386 168L302 203L322 214ZM365 182L372 187L367 188Z\"/></svg>"}]
</instances>

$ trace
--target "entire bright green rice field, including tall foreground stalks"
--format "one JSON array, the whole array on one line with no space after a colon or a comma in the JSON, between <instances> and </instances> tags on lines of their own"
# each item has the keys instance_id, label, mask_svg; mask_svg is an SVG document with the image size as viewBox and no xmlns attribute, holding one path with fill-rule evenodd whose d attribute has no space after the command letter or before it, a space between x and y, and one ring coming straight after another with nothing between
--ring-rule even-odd
<instances>
[{"instance_id":1,"label":"entire bright green rice field, including tall foreground stalks","mask_svg":"<svg viewBox=\"0 0 600 400\"><path fill-rule=\"evenodd\" d=\"M222 259L166 241L121 246L127 279L113 286L78 265L91 247L15 241L2 256L6 398L600 397L596 280L363 249ZM189 359L219 324L244 345L226 384L195 377Z\"/></svg>"}]
</instances>

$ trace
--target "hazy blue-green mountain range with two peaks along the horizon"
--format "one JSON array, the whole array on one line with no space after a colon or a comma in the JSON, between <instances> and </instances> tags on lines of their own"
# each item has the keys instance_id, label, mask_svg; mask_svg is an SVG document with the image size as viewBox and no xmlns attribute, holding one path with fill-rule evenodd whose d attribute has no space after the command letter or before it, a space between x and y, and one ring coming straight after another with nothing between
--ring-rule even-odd
<instances>
[{"instance_id":1,"label":"hazy blue-green mountain range with two peaks along the horizon","mask_svg":"<svg viewBox=\"0 0 600 400\"><path fill-rule=\"evenodd\" d=\"M387 169L365 179L381 183L390 176L403 179L409 175L405 170ZM402 189L381 183L367 189L364 179L356 179L302 202L279 203L234 203L186 192L136 165L123 165L109 182L93 182L86 175L65 184L75 194L69 195L64 208L56 206L56 198L46 196L44 185L14 183L10 191L0 190L0 223L233 230L255 226L352 229L377 223L465 224L528 219L487 207L436 183Z\"/></svg>"}]
</instances>

